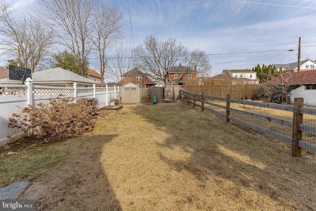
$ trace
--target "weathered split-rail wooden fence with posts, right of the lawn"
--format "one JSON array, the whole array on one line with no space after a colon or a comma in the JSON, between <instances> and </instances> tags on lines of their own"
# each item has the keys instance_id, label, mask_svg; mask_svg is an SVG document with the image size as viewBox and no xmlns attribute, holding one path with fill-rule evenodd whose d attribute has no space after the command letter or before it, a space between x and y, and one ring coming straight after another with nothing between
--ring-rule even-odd
<instances>
[{"instance_id":1,"label":"weathered split-rail wooden fence with posts, right of the lawn","mask_svg":"<svg viewBox=\"0 0 316 211\"><path fill-rule=\"evenodd\" d=\"M312 116L313 119L316 119L316 109L304 107L304 99L303 98L295 98L294 105L281 105L275 103L263 103L258 101L250 101L250 100L237 100L230 98L230 95L227 94L226 98L221 97L212 97L202 94L190 93L184 90L180 92L180 99L187 101L188 103L193 104L193 106L200 107L202 111L207 110L218 116L224 117L226 122L236 122L246 127L250 127L254 130L263 132L265 134L276 137L282 141L289 143L292 147L292 156L293 157L301 157L302 149L307 150L309 154L316 154L316 145L312 143L316 143L316 127L311 125L303 124L303 115ZM222 101L224 103L215 103L215 101ZM238 110L236 108L231 107L231 103L240 104L239 107L244 107L245 105L259 107L261 108L270 108L275 110L287 111L292 113L292 121L282 120L275 117L265 116L262 114L255 114L248 111ZM219 109L218 109L219 108ZM221 111L222 112L221 112ZM282 134L279 131L275 131L266 127L262 127L253 123L250 123L245 120L241 120L241 118L233 117L231 114L235 113L238 115L246 116L246 119L255 118L257 120L266 121L269 124L274 123L280 126L288 127L287 130L292 130L291 135ZM245 119L245 118L244 118ZM306 121L305 121L306 122ZM313 136L313 141L303 140L302 134L307 133L306 137Z\"/></svg>"}]
</instances>

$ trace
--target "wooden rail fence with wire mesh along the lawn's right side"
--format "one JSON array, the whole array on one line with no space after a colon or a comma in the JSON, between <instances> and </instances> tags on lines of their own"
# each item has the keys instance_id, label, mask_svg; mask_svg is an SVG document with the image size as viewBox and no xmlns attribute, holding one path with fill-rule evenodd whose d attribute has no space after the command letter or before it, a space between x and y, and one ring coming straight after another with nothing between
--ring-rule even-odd
<instances>
[{"instance_id":1,"label":"wooden rail fence with wire mesh along the lawn's right side","mask_svg":"<svg viewBox=\"0 0 316 211\"><path fill-rule=\"evenodd\" d=\"M312 156L316 153L316 145L314 144L316 143L316 127L311 126L312 121L316 121L316 109L304 107L303 98L295 98L294 106L292 106L231 99L229 94L226 98L220 98L203 95L203 93L190 93L184 90L181 90L179 93L181 100L193 104L194 107L200 107L202 111L210 111L226 118L227 122L235 122L288 143L291 145L293 157L302 157L302 149L306 150L306 154ZM261 113L252 112L251 109L253 111L261 110ZM277 110L286 113L281 113L278 117L273 117L268 115L269 112L267 112L267 109L269 111ZM288 119L282 119L283 116L288 116ZM265 125L271 125L271 128L260 126L254 120L257 120L257 122L266 122L267 124ZM285 129L278 131L278 127L272 127L272 125L278 125L279 128L282 127Z\"/></svg>"}]
</instances>

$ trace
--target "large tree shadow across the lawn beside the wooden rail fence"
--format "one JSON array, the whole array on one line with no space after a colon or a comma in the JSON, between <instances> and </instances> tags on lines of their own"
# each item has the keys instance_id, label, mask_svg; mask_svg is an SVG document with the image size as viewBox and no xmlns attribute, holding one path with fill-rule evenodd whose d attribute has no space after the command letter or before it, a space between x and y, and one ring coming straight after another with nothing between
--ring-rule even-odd
<instances>
[{"instance_id":1,"label":"large tree shadow across the lawn beside the wooden rail fence","mask_svg":"<svg viewBox=\"0 0 316 211\"><path fill-rule=\"evenodd\" d=\"M180 148L182 152L190 154L186 160L176 160L170 159L163 152L159 153L161 161L171 168L179 172L189 172L204 184L210 179L214 180L218 187L226 181L233 182L236 194L232 198L242 197L238 187L243 187L244 190L254 190L269 196L282 208L315 209L315 201L304 202L311 200L306 191L315 193L311 189L311 184L315 184L312 174L302 172L304 167L301 165L304 164L272 147L268 142L259 140L236 126L226 124L212 114L200 115L199 111L189 107L166 109L168 110L160 110L158 114L165 116L159 118L166 120L163 124L153 115L137 113L169 134L170 137L163 143L157 143L158 146L172 150ZM188 123L184 122L195 126L188 127ZM300 183L295 179L298 177ZM256 206L255 202L247 203Z\"/></svg>"}]
</instances>

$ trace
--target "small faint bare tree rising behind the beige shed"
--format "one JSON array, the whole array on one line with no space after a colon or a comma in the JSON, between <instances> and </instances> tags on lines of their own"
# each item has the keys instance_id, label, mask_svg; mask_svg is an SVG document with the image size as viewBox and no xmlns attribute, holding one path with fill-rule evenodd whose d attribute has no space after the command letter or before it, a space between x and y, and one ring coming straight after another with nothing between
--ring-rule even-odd
<instances>
[{"instance_id":1,"label":"small faint bare tree rising behind the beige shed","mask_svg":"<svg viewBox=\"0 0 316 211\"><path fill-rule=\"evenodd\" d=\"M116 47L116 54L109 62L110 74L120 81L124 73L132 68L132 50L127 44L120 44Z\"/></svg>"}]
</instances>

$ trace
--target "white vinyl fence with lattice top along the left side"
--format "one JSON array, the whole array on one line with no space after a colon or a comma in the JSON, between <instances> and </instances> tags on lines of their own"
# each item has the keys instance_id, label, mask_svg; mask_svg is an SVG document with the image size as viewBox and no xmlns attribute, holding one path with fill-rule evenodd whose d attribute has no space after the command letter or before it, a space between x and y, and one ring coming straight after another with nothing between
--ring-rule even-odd
<instances>
[{"instance_id":1,"label":"white vinyl fence with lattice top along the left side","mask_svg":"<svg viewBox=\"0 0 316 211\"><path fill-rule=\"evenodd\" d=\"M9 118L13 113L20 113L21 109L28 105L36 106L38 103L48 103L49 98L59 94L65 97L74 97L75 102L81 98L97 98L98 107L108 106L112 99L120 98L120 88L106 87L58 87L33 85L32 79L28 78L25 85L0 84L0 146L11 141L18 140L30 134L24 133L21 128L9 128Z\"/></svg>"}]
</instances>

